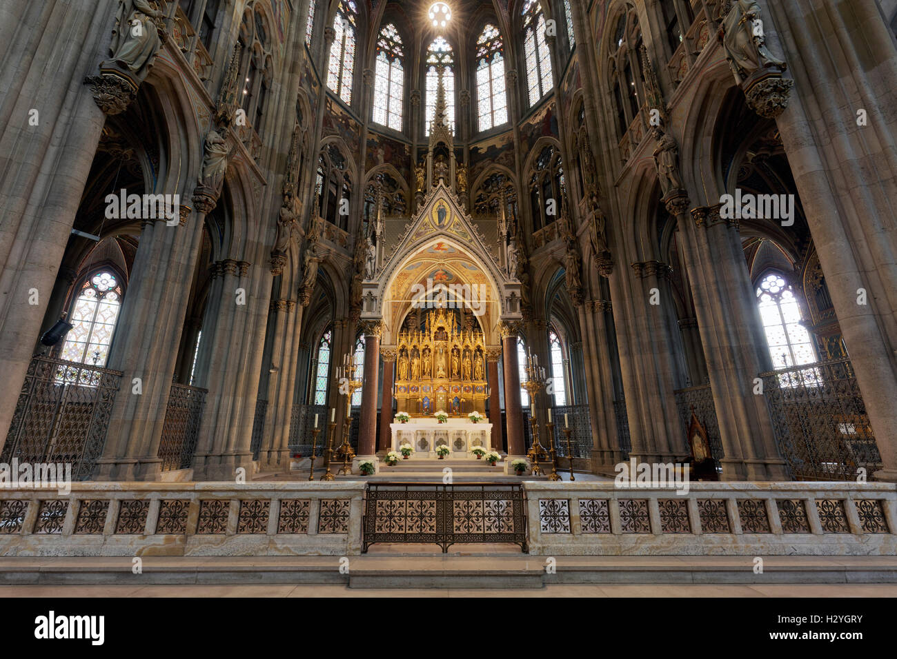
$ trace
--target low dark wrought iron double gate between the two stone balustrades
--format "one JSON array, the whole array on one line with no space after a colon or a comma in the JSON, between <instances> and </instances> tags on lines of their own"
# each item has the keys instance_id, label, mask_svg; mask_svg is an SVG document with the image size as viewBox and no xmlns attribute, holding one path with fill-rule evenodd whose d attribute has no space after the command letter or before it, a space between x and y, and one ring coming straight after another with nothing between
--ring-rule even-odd
<instances>
[{"instance_id":1,"label":"low dark wrought iron double gate between the two stone balustrades","mask_svg":"<svg viewBox=\"0 0 897 659\"><path fill-rule=\"evenodd\" d=\"M369 483L361 551L375 542L438 544L513 542L527 551L522 483Z\"/></svg>"}]
</instances>

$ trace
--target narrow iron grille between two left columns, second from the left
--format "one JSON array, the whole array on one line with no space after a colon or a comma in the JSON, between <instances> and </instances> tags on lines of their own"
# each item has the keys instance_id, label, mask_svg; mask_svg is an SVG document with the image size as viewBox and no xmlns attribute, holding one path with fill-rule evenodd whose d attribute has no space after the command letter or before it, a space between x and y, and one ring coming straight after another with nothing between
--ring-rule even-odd
<instances>
[{"instance_id":1,"label":"narrow iron grille between two left columns, second from the left","mask_svg":"<svg viewBox=\"0 0 897 659\"><path fill-rule=\"evenodd\" d=\"M197 386L179 385L177 382L171 385L159 443L163 472L190 468L193 454L196 453L206 394L208 390Z\"/></svg>"}]
</instances>

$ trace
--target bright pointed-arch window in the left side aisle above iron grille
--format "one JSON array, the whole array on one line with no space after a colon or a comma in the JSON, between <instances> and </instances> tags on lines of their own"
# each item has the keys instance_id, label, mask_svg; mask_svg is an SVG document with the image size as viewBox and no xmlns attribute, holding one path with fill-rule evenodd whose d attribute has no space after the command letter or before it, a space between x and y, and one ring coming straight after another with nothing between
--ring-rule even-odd
<instances>
[{"instance_id":1,"label":"bright pointed-arch window in the left side aisle above iron grille","mask_svg":"<svg viewBox=\"0 0 897 659\"><path fill-rule=\"evenodd\" d=\"M116 275L102 270L88 277L74 300L60 357L91 366L106 366L109 345L121 310L122 288Z\"/></svg>"}]
</instances>

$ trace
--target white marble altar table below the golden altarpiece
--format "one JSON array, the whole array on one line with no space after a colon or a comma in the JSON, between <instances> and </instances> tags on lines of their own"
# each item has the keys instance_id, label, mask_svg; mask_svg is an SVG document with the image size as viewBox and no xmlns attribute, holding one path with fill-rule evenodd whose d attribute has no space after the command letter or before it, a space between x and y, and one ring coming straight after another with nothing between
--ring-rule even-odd
<instances>
[{"instance_id":1,"label":"white marble altar table below the golden altarpiece","mask_svg":"<svg viewBox=\"0 0 897 659\"><path fill-rule=\"evenodd\" d=\"M392 430L392 448L407 442L414 447L417 457L436 457L436 447L448 444L450 457L475 459L470 453L473 447L483 447L487 451L492 448L492 423L479 421L474 423L466 418L449 418L440 423L434 418L413 418L407 423L394 421L389 424Z\"/></svg>"}]
</instances>

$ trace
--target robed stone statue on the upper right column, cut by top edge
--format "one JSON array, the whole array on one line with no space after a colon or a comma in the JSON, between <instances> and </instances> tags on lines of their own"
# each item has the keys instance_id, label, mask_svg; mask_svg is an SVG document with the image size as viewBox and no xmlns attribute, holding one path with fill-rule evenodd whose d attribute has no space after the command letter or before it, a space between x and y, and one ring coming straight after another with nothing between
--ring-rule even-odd
<instances>
[{"instance_id":1,"label":"robed stone statue on the upper right column, cut by top edge","mask_svg":"<svg viewBox=\"0 0 897 659\"><path fill-rule=\"evenodd\" d=\"M756 0L735 0L719 26L719 39L738 84L761 66L784 71L787 65L766 48L760 5Z\"/></svg>"}]
</instances>

